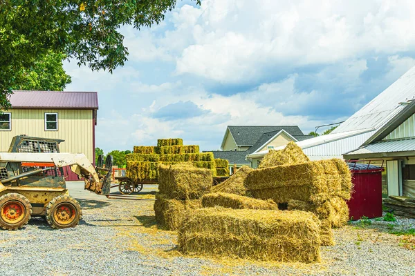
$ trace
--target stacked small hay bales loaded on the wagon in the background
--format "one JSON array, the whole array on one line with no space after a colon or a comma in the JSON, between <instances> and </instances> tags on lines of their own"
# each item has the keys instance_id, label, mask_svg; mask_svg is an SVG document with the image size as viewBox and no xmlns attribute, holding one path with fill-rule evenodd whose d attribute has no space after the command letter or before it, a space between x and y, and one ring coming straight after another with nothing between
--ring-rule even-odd
<instances>
[{"instance_id":1,"label":"stacked small hay bales loaded on the wagon in the background","mask_svg":"<svg viewBox=\"0 0 415 276\"><path fill-rule=\"evenodd\" d=\"M183 139L158 139L157 146L135 146L126 155L127 177L134 181L158 179L160 164L172 165L192 162L197 168L208 168L216 176L216 163L212 152L199 152L199 146L183 146ZM222 172L221 172L222 173Z\"/></svg>"}]
</instances>

